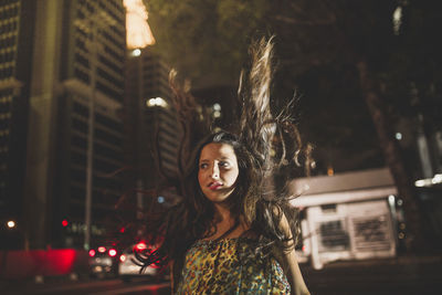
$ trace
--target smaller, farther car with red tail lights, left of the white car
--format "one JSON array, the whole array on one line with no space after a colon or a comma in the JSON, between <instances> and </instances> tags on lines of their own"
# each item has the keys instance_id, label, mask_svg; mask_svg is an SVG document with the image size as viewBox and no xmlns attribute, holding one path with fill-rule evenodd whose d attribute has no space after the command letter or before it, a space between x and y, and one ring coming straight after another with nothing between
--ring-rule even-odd
<instances>
[{"instance_id":1,"label":"smaller, farther car with red tail lights, left of the white car","mask_svg":"<svg viewBox=\"0 0 442 295\"><path fill-rule=\"evenodd\" d=\"M118 271L118 251L101 245L90 250L90 274L94 277L115 276Z\"/></svg>"}]
</instances>

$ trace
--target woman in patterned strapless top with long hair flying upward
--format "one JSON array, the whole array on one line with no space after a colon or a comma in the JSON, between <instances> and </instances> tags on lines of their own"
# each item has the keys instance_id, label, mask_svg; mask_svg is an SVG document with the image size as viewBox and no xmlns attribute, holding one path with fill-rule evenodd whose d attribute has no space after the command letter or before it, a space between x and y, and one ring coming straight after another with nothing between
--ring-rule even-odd
<instances>
[{"instance_id":1,"label":"woman in patterned strapless top with long hair flying upward","mask_svg":"<svg viewBox=\"0 0 442 295\"><path fill-rule=\"evenodd\" d=\"M309 294L296 261L295 211L267 183L280 165L297 159L301 143L287 117L270 112L272 42L252 53L238 130L198 145L182 201L150 223L161 246L139 256L145 266L172 262L176 294ZM287 138L296 139L293 154Z\"/></svg>"}]
</instances>

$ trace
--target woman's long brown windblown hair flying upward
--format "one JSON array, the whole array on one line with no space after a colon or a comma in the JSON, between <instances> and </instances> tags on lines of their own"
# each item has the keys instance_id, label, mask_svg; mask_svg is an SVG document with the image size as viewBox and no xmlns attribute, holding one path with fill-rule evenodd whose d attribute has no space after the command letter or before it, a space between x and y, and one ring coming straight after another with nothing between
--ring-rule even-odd
<instances>
[{"instance_id":1,"label":"woman's long brown windblown hair flying upward","mask_svg":"<svg viewBox=\"0 0 442 295\"><path fill-rule=\"evenodd\" d=\"M148 232L154 243L161 236L160 246L151 253L138 254L137 259L144 267L151 263L166 265L173 261L175 281L178 280L185 254L191 244L210 236L215 230L214 207L203 196L198 182L199 156L202 148L210 143L223 143L233 147L239 177L228 203L236 223L242 218L250 228L244 235L257 240L256 251L269 255L274 247L286 251L293 249L297 242L297 211L288 204L293 197L284 191L276 193L271 178L284 165L302 166L301 158L304 159L304 165L309 167L312 147L303 146L298 130L288 115L292 103L276 116L272 116L272 39L262 39L254 43L250 51L251 67L248 73L241 73L238 91L241 116L236 129L209 133L192 154L189 152L189 138L192 138L191 126L194 126L194 122L190 122L189 118L196 118L196 114L192 114L194 98L187 89L176 85L175 72L170 76L175 105L183 129L178 167L179 192L182 199L157 218L150 215ZM290 222L293 236L287 236L280 226L283 214Z\"/></svg>"}]
</instances>

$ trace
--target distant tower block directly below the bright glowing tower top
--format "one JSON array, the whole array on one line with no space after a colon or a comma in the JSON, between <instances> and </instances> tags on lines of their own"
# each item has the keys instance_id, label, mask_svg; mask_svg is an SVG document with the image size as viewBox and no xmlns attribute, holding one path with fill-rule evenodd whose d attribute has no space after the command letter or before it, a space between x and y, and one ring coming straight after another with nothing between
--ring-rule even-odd
<instances>
[{"instance_id":1,"label":"distant tower block directly below the bright glowing tower top","mask_svg":"<svg viewBox=\"0 0 442 295\"><path fill-rule=\"evenodd\" d=\"M136 54L135 54L136 53ZM155 189L161 182L159 168L168 176L178 171L177 155L181 128L170 97L168 83L170 69L149 49L134 51L127 59L126 98L127 122L131 127L133 143L129 162L137 172L134 183L144 189ZM158 143L157 143L158 141ZM158 147L158 150L157 150ZM155 158L159 156L159 161ZM173 193L160 192L158 202L173 202ZM151 203L148 196L139 196L138 204Z\"/></svg>"}]
</instances>

